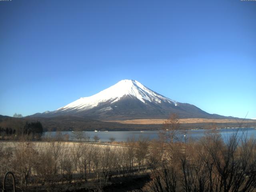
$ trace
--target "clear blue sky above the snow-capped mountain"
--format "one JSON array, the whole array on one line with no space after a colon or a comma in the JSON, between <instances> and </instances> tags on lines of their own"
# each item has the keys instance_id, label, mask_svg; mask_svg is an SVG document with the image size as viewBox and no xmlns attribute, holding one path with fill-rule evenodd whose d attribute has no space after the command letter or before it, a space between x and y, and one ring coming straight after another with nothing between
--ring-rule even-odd
<instances>
[{"instance_id":1,"label":"clear blue sky above the snow-capped mountain","mask_svg":"<svg viewBox=\"0 0 256 192\"><path fill-rule=\"evenodd\" d=\"M122 79L256 118L256 1L0 1L0 114L55 110Z\"/></svg>"}]
</instances>

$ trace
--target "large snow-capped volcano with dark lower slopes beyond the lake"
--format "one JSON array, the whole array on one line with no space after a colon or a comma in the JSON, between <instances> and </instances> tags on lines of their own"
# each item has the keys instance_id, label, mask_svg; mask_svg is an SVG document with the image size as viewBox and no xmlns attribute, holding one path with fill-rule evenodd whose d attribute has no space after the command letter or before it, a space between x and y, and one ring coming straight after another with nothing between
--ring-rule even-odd
<instances>
[{"instance_id":1,"label":"large snow-capped volcano with dark lower slopes beyond the lake","mask_svg":"<svg viewBox=\"0 0 256 192\"><path fill-rule=\"evenodd\" d=\"M209 114L200 108L162 96L136 80L121 80L101 92L82 97L54 111L36 113L34 117L78 116L99 120L168 118L227 118Z\"/></svg>"}]
</instances>

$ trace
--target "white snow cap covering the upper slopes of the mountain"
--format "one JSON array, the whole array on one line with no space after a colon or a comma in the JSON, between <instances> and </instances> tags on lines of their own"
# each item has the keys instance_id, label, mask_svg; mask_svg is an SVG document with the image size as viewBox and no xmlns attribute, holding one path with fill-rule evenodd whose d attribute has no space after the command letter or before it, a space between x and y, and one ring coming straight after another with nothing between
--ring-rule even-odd
<instances>
[{"instance_id":1,"label":"white snow cap covering the upper slopes of the mountain","mask_svg":"<svg viewBox=\"0 0 256 192\"><path fill-rule=\"evenodd\" d=\"M62 108L58 108L55 112L64 112L64 111L85 111L92 109L98 106L100 103L103 102L110 102L113 104L117 102L121 98L125 96L131 96L137 98L142 103L154 102L154 103L172 103L177 106L177 102L166 98L156 92L150 90L146 86L142 85L140 82L136 80L121 80L117 84L93 95L90 97L82 97ZM111 110L111 108L105 108L102 110Z\"/></svg>"}]
</instances>

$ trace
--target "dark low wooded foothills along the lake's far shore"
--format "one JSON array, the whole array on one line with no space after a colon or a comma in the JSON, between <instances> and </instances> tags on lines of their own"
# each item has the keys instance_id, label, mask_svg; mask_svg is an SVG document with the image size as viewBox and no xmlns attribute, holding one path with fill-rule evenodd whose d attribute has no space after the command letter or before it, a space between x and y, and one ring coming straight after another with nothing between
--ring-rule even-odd
<instances>
[{"instance_id":1,"label":"dark low wooded foothills along the lake's far shore","mask_svg":"<svg viewBox=\"0 0 256 192\"><path fill-rule=\"evenodd\" d=\"M26 121L34 122L40 121L44 128L44 131L94 131L97 130L109 130L109 131L132 131L132 130L160 130L162 124L122 124L117 122L103 122L99 120L93 120L88 118L80 118L73 116L58 116L52 118L12 118L8 116L0 116L0 126L22 128ZM180 123L180 129L208 129L214 127L226 128L226 127L238 127L240 122L222 122L222 123ZM244 122L244 127L256 126L256 121Z\"/></svg>"}]
</instances>

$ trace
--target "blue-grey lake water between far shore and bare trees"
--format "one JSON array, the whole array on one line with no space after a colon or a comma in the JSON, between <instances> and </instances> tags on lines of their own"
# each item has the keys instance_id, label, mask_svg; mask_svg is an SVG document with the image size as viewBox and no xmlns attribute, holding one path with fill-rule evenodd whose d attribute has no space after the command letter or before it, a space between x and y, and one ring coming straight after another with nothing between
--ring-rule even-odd
<instances>
[{"instance_id":1,"label":"blue-grey lake water between far shore and bare trees","mask_svg":"<svg viewBox=\"0 0 256 192\"><path fill-rule=\"evenodd\" d=\"M189 140L198 140L200 139L202 136L205 135L205 132L207 130L188 130L186 133L186 141ZM242 136L243 134L246 135L248 138L253 137L256 138L256 129L255 128L229 128L229 129L220 129L217 130L220 132L222 138L225 140L227 140L227 138L229 138L232 134L238 132L238 136ZM43 137L55 137L57 132L45 132L43 134ZM102 142L106 142L109 141L109 138L115 138L115 141L121 142L121 141L127 141L128 138L132 138L134 137L135 140L137 140L140 136L142 137L146 137L149 138L150 140L154 139L154 138L158 138L158 133L159 131L108 131L108 132L104 132L104 131L99 131L99 132L91 132L91 131L84 131L84 134L89 134L90 135L90 141L94 141L93 137L96 135L100 138L100 141ZM68 135L68 138L70 141L76 141L76 132L68 132L68 131L63 131L60 132L60 134L62 134L62 136L64 136L65 134ZM180 140L184 141L184 133L181 132L179 134Z\"/></svg>"}]
</instances>

